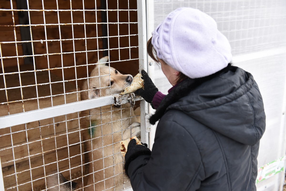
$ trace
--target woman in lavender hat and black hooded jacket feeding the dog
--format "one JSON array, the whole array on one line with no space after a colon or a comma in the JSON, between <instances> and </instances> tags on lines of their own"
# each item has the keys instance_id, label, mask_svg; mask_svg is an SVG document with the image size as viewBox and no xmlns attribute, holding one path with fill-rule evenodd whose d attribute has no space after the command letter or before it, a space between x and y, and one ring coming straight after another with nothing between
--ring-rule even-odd
<instances>
[{"instance_id":1,"label":"woman in lavender hat and black hooded jacket feeding the dog","mask_svg":"<svg viewBox=\"0 0 286 191\"><path fill-rule=\"evenodd\" d=\"M231 66L216 22L192 8L171 12L153 32L148 54L174 85L165 96L142 70L159 121L152 152L130 141L125 172L137 190L256 190L265 113L253 76ZM154 52L153 52L154 49Z\"/></svg>"}]
</instances>

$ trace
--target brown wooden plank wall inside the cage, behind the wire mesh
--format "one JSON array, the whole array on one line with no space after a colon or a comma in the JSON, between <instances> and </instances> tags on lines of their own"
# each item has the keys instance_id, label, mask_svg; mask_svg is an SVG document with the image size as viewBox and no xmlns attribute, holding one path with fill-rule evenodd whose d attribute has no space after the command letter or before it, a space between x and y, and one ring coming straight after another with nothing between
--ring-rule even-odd
<instances>
[{"instance_id":1,"label":"brown wooden plank wall inside the cage, behind the wire mesh","mask_svg":"<svg viewBox=\"0 0 286 191\"><path fill-rule=\"evenodd\" d=\"M10 1L0 0L1 9L11 9ZM44 1L45 9L57 9L56 1ZM95 9L95 6L100 7L100 1L97 1L95 5L94 0L84 0L85 9ZM16 3L13 0L13 8L16 9ZM42 3L38 0L29 0L30 9L42 9ZM59 0L59 9L70 9L69 0ZM72 0L73 9L83 9L82 1ZM108 0L108 9L128 9L128 0L120 0L118 7L116 0ZM136 1L129 0L129 9L137 9ZM137 22L137 11L129 11L130 22ZM97 14L97 22L101 22L101 12L98 11L85 11L85 22L95 23ZM84 13L83 11L73 11L73 22L83 23ZM128 22L128 11L108 11L108 22ZM19 23L17 19L17 11L14 11L15 24ZM43 11L30 11L30 19L32 24L44 24ZM70 11L60 11L59 12L60 23L71 23L71 12ZM58 23L57 13L54 11L45 11L45 22ZM12 26L11 26L12 25ZM97 31L96 31L97 27ZM72 33L72 25L61 25L61 39L72 39L74 38L87 38L90 37L101 37L101 25L96 24L86 24L86 35L84 33L84 25L74 25ZM119 27L119 34L118 34ZM46 32L45 32L46 30ZM44 26L32 26L32 38L33 40L59 40L59 26L58 25L47 25ZM118 35L128 35L128 34L138 34L137 24L108 24L109 36ZM18 41L21 40L20 29L15 27L16 38ZM47 36L47 38L45 37ZM73 36L74 35L74 36ZM14 37L14 27L12 20L12 11L0 11L0 42L15 41ZM119 47L129 47L138 46L138 36L128 37L112 37L108 38L109 48L119 48ZM74 47L73 48L73 43ZM16 46L18 49L18 55L22 56L21 44L1 44L2 56L16 56ZM60 48L62 46L62 48ZM85 51L96 50L94 52L84 53L70 53L61 55L50 55L50 56L35 56L35 68L34 66L27 66L23 63L23 58L10 58L3 59L4 72L17 72L18 65L20 71L27 70L41 70L50 68L48 74L47 71L37 72L36 78L37 83L49 82L49 75L51 76L51 81L62 81L73 80L78 78L84 78L91 72L94 66L87 66L86 64L96 63L99 57L102 57L102 40L98 39L81 39L81 40L64 40L47 42L48 53L60 53L62 52L74 52L75 51ZM47 48L46 43L43 42L33 42L34 54L46 54ZM110 50L110 61L119 61L138 58L138 48L131 48L130 52L128 48L120 50ZM49 65L48 65L49 64ZM61 66L79 66L75 68L66 68L64 70L57 69ZM120 72L125 74L136 75L138 73L138 60L115 62L111 64L112 67L117 68ZM2 68L2 64L0 64ZM2 72L2 69L0 69ZM4 88L3 75L0 77L0 88ZM7 87L17 87L19 86L19 76L18 75L5 75ZM22 85L35 84L35 73L29 72L27 74L21 74ZM82 82L84 80L78 80L77 86L76 81L65 83L65 92L75 92L81 89ZM39 96L48 96L50 93L50 85L38 85ZM36 89L35 86L29 88L22 88L23 99L35 98ZM61 94L63 92L63 83L56 83L52 85L52 94ZM5 91L0 91L1 102L7 100ZM4 101L3 101L3 100ZM20 88L16 88L8 91L8 100L17 101L21 99ZM65 96L53 97L53 105L75 102L80 100L80 96L77 94L69 94ZM23 112L23 107L25 111L30 111L38 109L37 100L28 100L22 102L15 102L9 104L9 112L20 113ZM39 99L39 107L51 107L51 98ZM0 105L0 116L8 115L7 104ZM67 121L66 119L67 118ZM19 190L31 190L33 186L34 190L45 189L45 178L44 178L44 167L45 172L48 173L52 170L57 170L57 164L59 170L67 170L63 173L66 178L69 178L69 157L80 154L80 143L79 143L79 130L78 127L78 113L70 114L65 116L55 117L54 119L45 119L41 121L35 121L32 123L27 123L24 125L17 125L11 128L0 129L0 157L2 162L2 172L4 178L5 188L16 186L17 184L23 184L18 187ZM55 129L55 132L54 132ZM69 132L66 135L66 132ZM72 133L74 132L74 133ZM67 138L69 143L67 143ZM28 143L27 143L28 139ZM13 146L12 146L13 140ZM56 145L55 145L56 140ZM78 143L78 144L76 144ZM72 147L67 145L74 144ZM29 147L29 149L28 149ZM82 148L83 145L82 145ZM28 150L29 156L28 157ZM83 150L82 150L83 152ZM58 163L56 161L63 160ZM70 160L71 167L76 167L81 164L81 160L84 161L84 155L73 157ZM15 163L14 163L15 162ZM15 174L15 168L17 174ZM32 170L30 170L32 169ZM21 173L19 173L21 172ZM11 176L10 176L11 175ZM16 184L17 175L17 184ZM32 183L31 181L32 175ZM72 178L81 176L81 167L74 168L72 170ZM29 183L27 183L29 182ZM16 188L9 190L17 190Z\"/></svg>"}]
</instances>

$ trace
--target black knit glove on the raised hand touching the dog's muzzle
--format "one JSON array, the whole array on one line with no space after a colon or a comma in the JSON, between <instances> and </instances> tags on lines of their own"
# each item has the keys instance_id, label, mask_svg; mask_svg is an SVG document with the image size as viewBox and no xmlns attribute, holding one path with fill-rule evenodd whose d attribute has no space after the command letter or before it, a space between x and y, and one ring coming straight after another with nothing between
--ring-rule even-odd
<instances>
[{"instance_id":1,"label":"black knit glove on the raised hand touching the dog's muzzle","mask_svg":"<svg viewBox=\"0 0 286 191\"><path fill-rule=\"evenodd\" d=\"M142 79L144 79L144 89L138 89L135 93L140 95L148 103L152 103L154 95L158 92L158 88L156 88L145 70L141 70L141 74Z\"/></svg>"}]
</instances>

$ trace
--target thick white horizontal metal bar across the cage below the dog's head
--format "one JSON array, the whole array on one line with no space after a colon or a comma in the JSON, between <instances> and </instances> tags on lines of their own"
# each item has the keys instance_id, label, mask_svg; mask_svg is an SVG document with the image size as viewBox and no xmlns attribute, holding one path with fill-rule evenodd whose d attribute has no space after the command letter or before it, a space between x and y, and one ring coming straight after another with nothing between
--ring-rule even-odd
<instances>
[{"instance_id":1,"label":"thick white horizontal metal bar across the cage below the dog's head","mask_svg":"<svg viewBox=\"0 0 286 191\"><path fill-rule=\"evenodd\" d=\"M134 101L141 100L142 97L135 97ZM0 117L0 129L6 127L12 127L15 125L21 125L33 121L39 121L42 119L48 119L51 117L57 117L61 115L67 115L70 113L76 113L87 109L96 107L102 107L106 105L114 104L114 96L105 96L96 99L88 99L84 101L78 101L74 103L67 103L63 105L57 105L54 107L47 107L43 109L37 109L33 111L27 111L23 113L17 113L13 115L6 115Z\"/></svg>"}]
</instances>

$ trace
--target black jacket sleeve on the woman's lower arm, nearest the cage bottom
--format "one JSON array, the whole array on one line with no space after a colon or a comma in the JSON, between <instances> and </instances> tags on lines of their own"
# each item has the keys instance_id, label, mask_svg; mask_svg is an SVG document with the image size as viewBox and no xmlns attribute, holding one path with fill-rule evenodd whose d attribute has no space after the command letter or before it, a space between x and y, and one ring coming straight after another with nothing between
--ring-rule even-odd
<instances>
[{"instance_id":1,"label":"black jacket sleeve on the woman's lower arm, nearest the cage bottom","mask_svg":"<svg viewBox=\"0 0 286 191\"><path fill-rule=\"evenodd\" d=\"M170 112L167 112L170 113ZM128 168L134 191L196 190L204 176L192 136L167 115L158 123L151 155L140 155Z\"/></svg>"}]
</instances>

